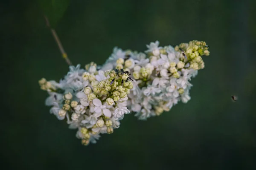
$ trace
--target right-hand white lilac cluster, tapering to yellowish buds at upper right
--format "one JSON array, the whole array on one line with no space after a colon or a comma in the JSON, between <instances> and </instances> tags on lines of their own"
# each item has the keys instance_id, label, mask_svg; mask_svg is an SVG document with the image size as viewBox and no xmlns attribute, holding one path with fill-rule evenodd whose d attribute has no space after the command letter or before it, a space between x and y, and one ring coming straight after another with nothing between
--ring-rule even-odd
<instances>
[{"instance_id":1,"label":"right-hand white lilac cluster, tapering to yellowish buds at upper right","mask_svg":"<svg viewBox=\"0 0 256 170\"><path fill-rule=\"evenodd\" d=\"M147 45L145 53L114 48L102 70L123 69L131 73L134 88L128 94L128 109L138 119L145 120L169 111L180 100L190 100L192 77L204 68L201 56L208 56L208 45L203 41L160 47L159 42Z\"/></svg>"}]
</instances>

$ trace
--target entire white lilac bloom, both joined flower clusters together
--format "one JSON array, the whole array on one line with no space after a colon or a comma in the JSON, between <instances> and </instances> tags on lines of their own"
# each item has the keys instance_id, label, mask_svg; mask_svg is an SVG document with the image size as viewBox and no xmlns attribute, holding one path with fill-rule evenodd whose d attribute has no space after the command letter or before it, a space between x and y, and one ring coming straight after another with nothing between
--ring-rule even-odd
<instances>
[{"instance_id":1,"label":"entire white lilac bloom, both joined flower clusters together","mask_svg":"<svg viewBox=\"0 0 256 170\"><path fill-rule=\"evenodd\" d=\"M158 41L147 47L145 53L114 48L102 66L70 66L60 82L39 80L49 93L50 113L78 129L76 136L87 145L100 133L113 133L130 111L145 120L188 102L190 80L204 68L201 56L209 55L209 47L196 40L175 48Z\"/></svg>"}]
</instances>

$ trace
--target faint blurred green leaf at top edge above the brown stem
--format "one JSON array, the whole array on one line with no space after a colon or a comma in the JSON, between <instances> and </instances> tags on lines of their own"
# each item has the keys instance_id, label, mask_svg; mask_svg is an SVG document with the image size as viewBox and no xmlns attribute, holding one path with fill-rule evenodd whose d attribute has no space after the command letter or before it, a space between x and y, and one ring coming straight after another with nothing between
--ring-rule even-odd
<instances>
[{"instance_id":1,"label":"faint blurred green leaf at top edge above the brown stem","mask_svg":"<svg viewBox=\"0 0 256 170\"><path fill-rule=\"evenodd\" d=\"M57 26L61 17L64 15L70 0L37 0L45 16L47 16L50 25Z\"/></svg>"}]
</instances>

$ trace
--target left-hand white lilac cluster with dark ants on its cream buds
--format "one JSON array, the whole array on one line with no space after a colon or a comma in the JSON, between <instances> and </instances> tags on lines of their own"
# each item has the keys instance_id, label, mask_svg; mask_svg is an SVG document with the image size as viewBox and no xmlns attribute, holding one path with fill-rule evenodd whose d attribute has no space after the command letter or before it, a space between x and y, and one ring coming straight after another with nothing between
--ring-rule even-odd
<instances>
[{"instance_id":1,"label":"left-hand white lilac cluster with dark ants on its cream buds","mask_svg":"<svg viewBox=\"0 0 256 170\"><path fill-rule=\"evenodd\" d=\"M59 120L66 119L71 129L78 129L77 138L84 145L96 143L100 133L113 133L127 109L128 94L133 88L129 72L102 71L91 62L85 70L70 66L60 82L42 78L39 85L49 93L46 105L52 106Z\"/></svg>"}]
</instances>

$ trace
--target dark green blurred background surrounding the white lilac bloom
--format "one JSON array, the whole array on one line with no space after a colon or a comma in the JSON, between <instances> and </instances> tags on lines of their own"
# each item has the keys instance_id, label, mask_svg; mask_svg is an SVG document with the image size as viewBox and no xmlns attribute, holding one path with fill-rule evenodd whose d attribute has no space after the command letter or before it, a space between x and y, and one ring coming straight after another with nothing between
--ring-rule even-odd
<instances>
[{"instance_id":1,"label":"dark green blurred background surrounding the white lilac bloom","mask_svg":"<svg viewBox=\"0 0 256 170\"><path fill-rule=\"evenodd\" d=\"M5 0L0 14L5 169L256 169L255 0ZM102 64L114 46L144 51L155 40L203 40L210 56L187 104L147 121L126 115L84 147L44 105L38 80L68 71L44 14L74 64Z\"/></svg>"}]
</instances>

